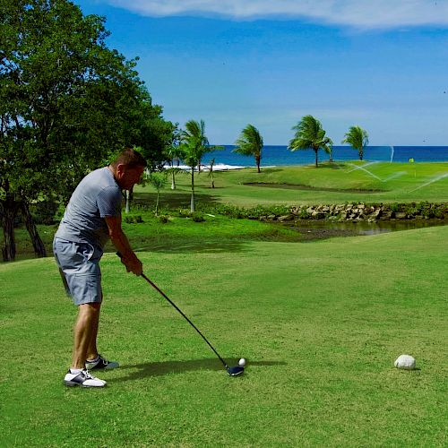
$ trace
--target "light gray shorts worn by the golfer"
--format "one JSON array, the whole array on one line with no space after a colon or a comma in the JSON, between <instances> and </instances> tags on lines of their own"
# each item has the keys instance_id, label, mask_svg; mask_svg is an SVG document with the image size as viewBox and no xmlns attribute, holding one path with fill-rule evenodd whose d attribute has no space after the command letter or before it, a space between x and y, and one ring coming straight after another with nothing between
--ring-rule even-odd
<instances>
[{"instance_id":1,"label":"light gray shorts worn by the golfer","mask_svg":"<svg viewBox=\"0 0 448 448\"><path fill-rule=\"evenodd\" d=\"M103 293L99 260L102 251L89 243L55 238L53 253L65 278L65 290L72 297L74 305L101 303Z\"/></svg>"}]
</instances>

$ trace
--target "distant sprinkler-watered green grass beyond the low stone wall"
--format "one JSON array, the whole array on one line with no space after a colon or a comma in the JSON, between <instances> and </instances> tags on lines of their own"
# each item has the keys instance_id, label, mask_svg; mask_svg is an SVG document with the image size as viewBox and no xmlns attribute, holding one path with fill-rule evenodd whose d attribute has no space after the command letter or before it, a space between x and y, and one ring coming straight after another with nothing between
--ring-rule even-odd
<instances>
[{"instance_id":1,"label":"distant sprinkler-watered green grass beyond the low stone wall","mask_svg":"<svg viewBox=\"0 0 448 448\"><path fill-rule=\"evenodd\" d=\"M326 163L319 168L262 168L260 174L254 168L217 172L213 189L210 177L203 172L195 176L195 183L198 203L231 203L246 207L280 203L444 202L448 197L447 175L448 163L352 161ZM189 207L189 182L190 177L177 175L177 190L162 191L162 202ZM245 185L248 183L271 184L272 187ZM306 185L312 189L285 188L285 184ZM357 189L360 191L353 191ZM155 203L155 193L149 186L137 188L136 198Z\"/></svg>"}]
</instances>

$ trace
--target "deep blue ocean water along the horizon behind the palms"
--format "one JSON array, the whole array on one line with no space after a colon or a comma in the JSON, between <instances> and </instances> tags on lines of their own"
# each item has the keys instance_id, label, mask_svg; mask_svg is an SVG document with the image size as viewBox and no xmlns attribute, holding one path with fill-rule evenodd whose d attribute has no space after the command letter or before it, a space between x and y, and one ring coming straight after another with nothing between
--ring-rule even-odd
<instances>
[{"instance_id":1,"label":"deep blue ocean water along the horizon behind the palms","mask_svg":"<svg viewBox=\"0 0 448 448\"><path fill-rule=\"evenodd\" d=\"M205 154L202 163L208 164L215 159L216 164L240 167L254 167L254 157L247 157L232 152L233 145L225 145L224 150ZM262 151L262 167L309 165L314 163L314 151L289 151L287 146L264 146ZM319 161L328 161L329 155L319 151ZM349 146L333 146L333 160L358 159L358 151ZM448 161L448 146L367 146L363 159L368 161L416 162Z\"/></svg>"}]
</instances>

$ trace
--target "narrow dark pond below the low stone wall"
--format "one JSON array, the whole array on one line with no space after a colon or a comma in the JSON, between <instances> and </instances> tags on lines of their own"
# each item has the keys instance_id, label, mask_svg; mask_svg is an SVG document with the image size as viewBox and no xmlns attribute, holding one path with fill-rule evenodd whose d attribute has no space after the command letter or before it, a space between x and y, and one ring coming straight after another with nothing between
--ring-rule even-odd
<instances>
[{"instance_id":1,"label":"narrow dark pond below the low stone wall","mask_svg":"<svg viewBox=\"0 0 448 448\"><path fill-rule=\"evenodd\" d=\"M358 235L375 235L378 233L411 230L414 228L427 228L444 226L447 220L383 220L376 222L343 221L332 222L327 220L300 220L282 222L282 225L293 228L302 234L305 241L331 237L354 237Z\"/></svg>"}]
</instances>

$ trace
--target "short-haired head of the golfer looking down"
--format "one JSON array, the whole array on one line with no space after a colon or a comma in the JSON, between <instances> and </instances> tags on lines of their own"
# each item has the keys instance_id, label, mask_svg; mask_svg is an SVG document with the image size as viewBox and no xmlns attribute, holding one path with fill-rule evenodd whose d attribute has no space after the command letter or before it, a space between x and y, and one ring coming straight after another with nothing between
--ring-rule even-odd
<instances>
[{"instance_id":1,"label":"short-haired head of the golfer looking down","mask_svg":"<svg viewBox=\"0 0 448 448\"><path fill-rule=\"evenodd\" d=\"M130 190L135 184L142 180L146 160L137 151L131 148L118 154L110 164L116 178L116 183L124 190Z\"/></svg>"}]
</instances>

